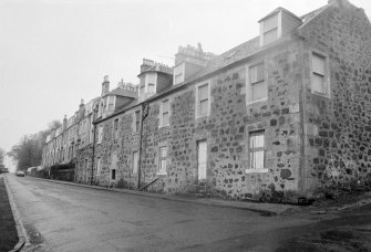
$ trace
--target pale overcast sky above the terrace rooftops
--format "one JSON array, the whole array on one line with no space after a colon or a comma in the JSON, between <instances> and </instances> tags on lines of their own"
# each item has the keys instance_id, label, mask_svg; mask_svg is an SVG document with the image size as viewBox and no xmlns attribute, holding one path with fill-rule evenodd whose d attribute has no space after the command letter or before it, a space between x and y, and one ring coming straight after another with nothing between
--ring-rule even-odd
<instances>
[{"instance_id":1,"label":"pale overcast sky above the terrace rooftops","mask_svg":"<svg viewBox=\"0 0 371 252\"><path fill-rule=\"evenodd\" d=\"M370 0L351 0L371 15ZM284 7L302 15L327 0L0 0L0 147L45 129L123 78L143 57L173 65L178 45L223 53Z\"/></svg>"}]
</instances>

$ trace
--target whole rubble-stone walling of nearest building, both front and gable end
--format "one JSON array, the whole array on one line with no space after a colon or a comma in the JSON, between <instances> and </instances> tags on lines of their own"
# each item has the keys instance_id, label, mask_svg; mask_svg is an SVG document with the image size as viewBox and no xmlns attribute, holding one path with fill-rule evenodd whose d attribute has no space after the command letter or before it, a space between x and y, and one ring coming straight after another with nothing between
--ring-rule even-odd
<instances>
[{"instance_id":1,"label":"whole rubble-stone walling of nearest building, both front and gable end","mask_svg":"<svg viewBox=\"0 0 371 252\"><path fill-rule=\"evenodd\" d=\"M342 7L340 7L342 4ZM142 185L150 191L188 193L197 185L197 141L207 140L209 195L282 201L312 196L318 188L371 182L371 28L361 9L347 1L322 10L272 50L150 102L143 122ZM311 91L311 55L328 59L329 95ZM268 98L255 103L248 69L264 62ZM196 117L196 87L210 86L210 113ZM169 125L161 127L161 103L169 99ZM140 148L131 108L97 124L100 185L136 188L133 151ZM120 118L114 132L114 119ZM265 133L267 171L249 169L249 135ZM97 139L97 136L96 136ZM159 147L167 146L166 174L158 174ZM116 170L112 180L111 170ZM95 171L94 171L95 172Z\"/></svg>"}]
</instances>

